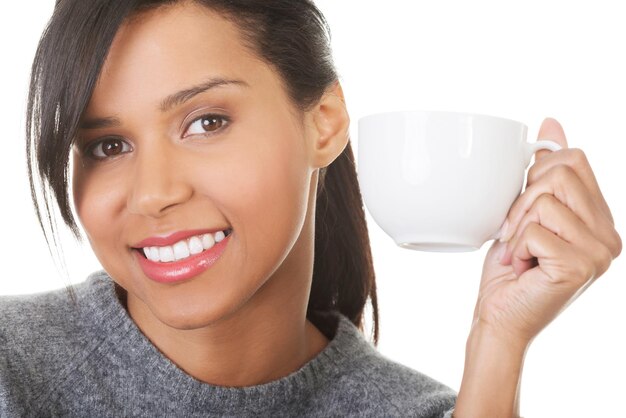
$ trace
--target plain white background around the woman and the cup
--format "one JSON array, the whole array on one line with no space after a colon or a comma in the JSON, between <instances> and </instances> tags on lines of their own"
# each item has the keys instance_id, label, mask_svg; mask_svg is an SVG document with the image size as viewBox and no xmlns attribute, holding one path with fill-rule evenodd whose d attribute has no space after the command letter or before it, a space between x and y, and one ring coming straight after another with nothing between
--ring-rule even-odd
<instances>
[{"instance_id":1,"label":"plain white background around the woman and the cup","mask_svg":"<svg viewBox=\"0 0 626 418\"><path fill-rule=\"evenodd\" d=\"M0 6L0 294L58 288L67 279L39 232L25 169L27 78L53 1ZM319 0L352 117L401 109L486 113L523 121L530 141L557 118L582 148L624 234L626 15L620 2ZM356 142L356 141L353 141ZM357 143L353 143L355 147ZM369 219L378 276L380 350L458 389L481 273L481 251L396 247ZM74 282L98 268L65 244ZM526 417L622 412L626 389L626 267L608 273L535 340L522 386Z\"/></svg>"}]
</instances>

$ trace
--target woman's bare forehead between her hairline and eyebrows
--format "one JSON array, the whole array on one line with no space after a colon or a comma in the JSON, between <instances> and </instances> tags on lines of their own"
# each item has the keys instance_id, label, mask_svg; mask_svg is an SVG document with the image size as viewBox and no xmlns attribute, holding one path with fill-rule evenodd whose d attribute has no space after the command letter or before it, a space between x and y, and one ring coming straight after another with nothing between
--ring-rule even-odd
<instances>
[{"instance_id":1,"label":"woman's bare forehead between her hairline and eyebrows","mask_svg":"<svg viewBox=\"0 0 626 418\"><path fill-rule=\"evenodd\" d=\"M191 2L143 12L118 31L89 108L113 111L140 100L161 100L208 77L275 78L269 65L243 42L235 24Z\"/></svg>"}]
</instances>

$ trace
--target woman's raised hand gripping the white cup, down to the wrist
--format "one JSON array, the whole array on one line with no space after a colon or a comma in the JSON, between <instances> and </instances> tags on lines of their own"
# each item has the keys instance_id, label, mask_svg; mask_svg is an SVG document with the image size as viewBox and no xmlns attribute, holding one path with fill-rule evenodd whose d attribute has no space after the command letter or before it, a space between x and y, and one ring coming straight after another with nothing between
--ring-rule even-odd
<instances>
[{"instance_id":1,"label":"woman's raised hand gripping the white cup, down to the wrist","mask_svg":"<svg viewBox=\"0 0 626 418\"><path fill-rule=\"evenodd\" d=\"M485 258L474 314L475 326L520 344L529 344L622 249L583 151L567 148L554 119L544 121L539 137L553 138L563 150L537 153L501 240Z\"/></svg>"}]
</instances>

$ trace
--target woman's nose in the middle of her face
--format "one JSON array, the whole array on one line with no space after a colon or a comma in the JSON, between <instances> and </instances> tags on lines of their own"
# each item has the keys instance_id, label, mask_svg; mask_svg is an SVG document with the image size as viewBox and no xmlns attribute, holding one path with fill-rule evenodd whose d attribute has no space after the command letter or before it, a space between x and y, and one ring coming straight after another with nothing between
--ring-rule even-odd
<instances>
[{"instance_id":1,"label":"woman's nose in the middle of her face","mask_svg":"<svg viewBox=\"0 0 626 418\"><path fill-rule=\"evenodd\" d=\"M136 150L127 208L135 215L159 218L193 195L184 161L175 147L153 145Z\"/></svg>"}]
</instances>

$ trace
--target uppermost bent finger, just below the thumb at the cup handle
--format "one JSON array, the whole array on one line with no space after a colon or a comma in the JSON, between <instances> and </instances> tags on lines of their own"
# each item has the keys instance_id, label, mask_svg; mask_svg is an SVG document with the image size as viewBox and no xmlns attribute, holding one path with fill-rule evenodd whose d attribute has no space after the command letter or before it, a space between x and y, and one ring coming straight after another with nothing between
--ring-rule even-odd
<instances>
[{"instance_id":1,"label":"uppermost bent finger, just below the thumb at the cup handle","mask_svg":"<svg viewBox=\"0 0 626 418\"><path fill-rule=\"evenodd\" d=\"M587 160L587 156L578 148L565 149L558 153L549 153L542 157L541 160L537 161L530 170L528 170L526 187L536 183L542 176L557 165L567 165L574 170L578 178L585 185L587 192L596 202L596 205L613 224L613 215L600 191L600 186Z\"/></svg>"}]
</instances>

